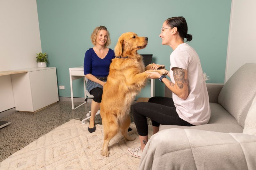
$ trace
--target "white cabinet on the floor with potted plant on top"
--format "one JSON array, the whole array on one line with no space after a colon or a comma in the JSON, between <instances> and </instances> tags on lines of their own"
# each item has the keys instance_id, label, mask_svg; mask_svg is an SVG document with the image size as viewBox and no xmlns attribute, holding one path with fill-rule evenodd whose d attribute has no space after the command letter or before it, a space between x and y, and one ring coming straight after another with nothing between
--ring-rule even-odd
<instances>
[{"instance_id":1,"label":"white cabinet on the floor with potted plant on top","mask_svg":"<svg viewBox=\"0 0 256 170\"><path fill-rule=\"evenodd\" d=\"M35 112L59 101L55 67L22 70L28 70L28 73L12 75L16 110Z\"/></svg>"}]
</instances>

